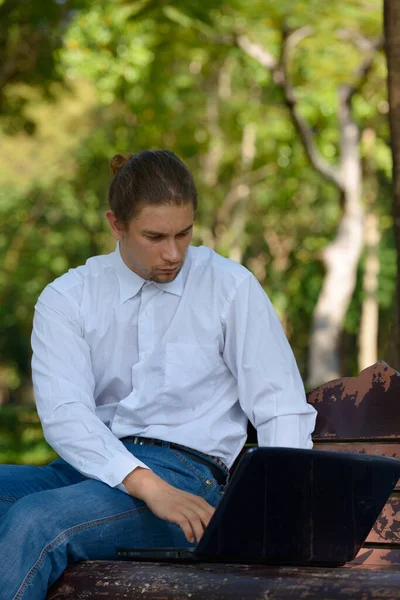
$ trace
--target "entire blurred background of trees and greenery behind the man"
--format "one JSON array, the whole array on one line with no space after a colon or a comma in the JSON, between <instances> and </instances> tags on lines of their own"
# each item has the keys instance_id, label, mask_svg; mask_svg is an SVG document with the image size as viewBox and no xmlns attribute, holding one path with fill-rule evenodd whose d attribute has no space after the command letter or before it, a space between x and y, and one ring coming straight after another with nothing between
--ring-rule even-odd
<instances>
[{"instance_id":1,"label":"entire blurred background of trees and greenery behind the man","mask_svg":"<svg viewBox=\"0 0 400 600\"><path fill-rule=\"evenodd\" d=\"M54 456L33 309L114 249L116 152L185 160L192 243L255 274L308 388L398 368L386 82L378 0L0 0L0 462Z\"/></svg>"}]
</instances>

